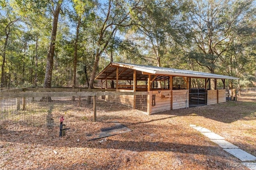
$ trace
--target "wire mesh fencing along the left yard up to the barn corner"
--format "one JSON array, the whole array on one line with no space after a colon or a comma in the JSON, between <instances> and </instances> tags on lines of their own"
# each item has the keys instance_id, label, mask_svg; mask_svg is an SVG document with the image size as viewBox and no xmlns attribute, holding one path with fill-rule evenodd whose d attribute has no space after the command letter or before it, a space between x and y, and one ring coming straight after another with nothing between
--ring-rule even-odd
<instances>
[{"instance_id":1,"label":"wire mesh fencing along the left yard up to the barn corner","mask_svg":"<svg viewBox=\"0 0 256 170\"><path fill-rule=\"evenodd\" d=\"M62 93L62 92L59 92ZM114 94L114 92L112 92ZM135 92L136 93L136 92ZM135 94L134 93L134 94ZM97 95L95 100L98 121L107 115L118 115L124 111L147 111L147 96L144 95ZM94 96L17 97L0 99L0 126L18 130L28 126L59 126L60 116L66 123L94 120ZM110 118L111 119L111 118Z\"/></svg>"}]
</instances>

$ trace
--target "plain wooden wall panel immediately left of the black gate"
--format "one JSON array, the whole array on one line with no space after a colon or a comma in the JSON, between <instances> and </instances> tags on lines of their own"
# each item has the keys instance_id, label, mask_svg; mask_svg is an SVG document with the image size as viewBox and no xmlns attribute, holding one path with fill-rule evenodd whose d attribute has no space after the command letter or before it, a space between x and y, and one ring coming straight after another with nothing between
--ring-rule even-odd
<instances>
[{"instance_id":1,"label":"plain wooden wall panel immediately left of the black gate","mask_svg":"<svg viewBox=\"0 0 256 170\"><path fill-rule=\"evenodd\" d=\"M172 91L172 109L182 109L188 107L188 90Z\"/></svg>"}]
</instances>

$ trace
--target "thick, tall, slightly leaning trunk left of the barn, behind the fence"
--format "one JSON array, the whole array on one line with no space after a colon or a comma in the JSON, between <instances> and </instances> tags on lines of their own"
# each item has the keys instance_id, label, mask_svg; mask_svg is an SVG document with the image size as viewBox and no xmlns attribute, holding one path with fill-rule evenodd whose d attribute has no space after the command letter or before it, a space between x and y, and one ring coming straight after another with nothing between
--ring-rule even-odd
<instances>
[{"instance_id":1,"label":"thick, tall, slightly leaning trunk left of the barn, behind the fence","mask_svg":"<svg viewBox=\"0 0 256 170\"><path fill-rule=\"evenodd\" d=\"M53 57L54 57L56 33L57 33L58 18L60 14L61 4L62 4L62 0L58 1L56 5L56 10L53 12L54 14L53 14L53 22L52 22L52 35L51 35L50 47L47 55L46 72L44 77L44 88L51 88Z\"/></svg>"}]
</instances>

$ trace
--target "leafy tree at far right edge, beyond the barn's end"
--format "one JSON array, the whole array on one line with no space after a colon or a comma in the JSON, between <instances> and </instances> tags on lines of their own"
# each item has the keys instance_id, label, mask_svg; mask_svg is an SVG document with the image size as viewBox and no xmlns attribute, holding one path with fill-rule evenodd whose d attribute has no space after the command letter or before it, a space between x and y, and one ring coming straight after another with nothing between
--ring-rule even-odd
<instances>
[{"instance_id":1,"label":"leafy tree at far right edge, beyond the barn's end","mask_svg":"<svg viewBox=\"0 0 256 170\"><path fill-rule=\"evenodd\" d=\"M221 70L225 71L230 76L236 76L244 79L245 75L253 75L255 63L255 45L256 45L256 8L250 7L244 14L244 17L239 18L236 24L232 27L234 32L232 42L228 44L228 51L225 51L220 58ZM247 73L247 74L244 74ZM233 88L232 80L229 81L230 89ZM240 93L240 80L238 80L238 91Z\"/></svg>"}]
</instances>

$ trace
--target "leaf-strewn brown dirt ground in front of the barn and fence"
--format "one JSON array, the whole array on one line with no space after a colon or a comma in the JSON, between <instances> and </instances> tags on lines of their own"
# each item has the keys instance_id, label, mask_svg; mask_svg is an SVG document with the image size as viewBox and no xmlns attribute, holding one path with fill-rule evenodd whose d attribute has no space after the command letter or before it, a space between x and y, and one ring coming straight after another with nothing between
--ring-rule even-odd
<instances>
[{"instance_id":1,"label":"leaf-strewn brown dirt ground in front of the barn and fence","mask_svg":"<svg viewBox=\"0 0 256 170\"><path fill-rule=\"evenodd\" d=\"M208 128L256 156L256 93L243 93L238 101L150 116L134 110L100 112L98 122L82 107L53 108L52 114L59 117L64 112L70 130L61 138L57 126L20 125L13 130L10 122L1 125L0 169L237 169L226 165L240 160L190 124ZM101 128L112 126L110 121L132 131L88 141Z\"/></svg>"}]
</instances>

